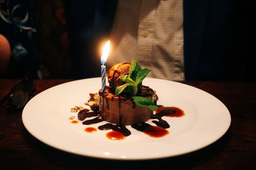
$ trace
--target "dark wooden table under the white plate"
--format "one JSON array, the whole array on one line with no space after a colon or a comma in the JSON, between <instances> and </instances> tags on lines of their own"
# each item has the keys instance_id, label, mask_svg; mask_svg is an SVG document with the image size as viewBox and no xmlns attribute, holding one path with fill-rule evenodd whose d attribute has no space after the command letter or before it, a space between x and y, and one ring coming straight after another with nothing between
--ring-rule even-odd
<instances>
[{"instance_id":1,"label":"dark wooden table under the white plate","mask_svg":"<svg viewBox=\"0 0 256 170\"><path fill-rule=\"evenodd\" d=\"M33 95L70 80L36 80ZM0 99L19 80L0 80ZM178 157L143 161L102 160L56 150L38 141L22 124L21 111L0 108L0 169L253 169L256 159L256 83L185 81L209 92L230 111L232 123L218 141ZM189 141L188 141L189 142ZM148 148L150 149L150 148Z\"/></svg>"}]
</instances>

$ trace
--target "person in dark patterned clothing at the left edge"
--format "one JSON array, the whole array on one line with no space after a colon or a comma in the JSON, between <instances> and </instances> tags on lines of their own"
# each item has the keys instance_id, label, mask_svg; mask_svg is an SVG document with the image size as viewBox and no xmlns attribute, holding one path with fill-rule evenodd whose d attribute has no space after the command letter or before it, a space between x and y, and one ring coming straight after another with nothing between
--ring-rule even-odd
<instances>
[{"instance_id":1,"label":"person in dark patterned clothing at the left edge","mask_svg":"<svg viewBox=\"0 0 256 170\"><path fill-rule=\"evenodd\" d=\"M0 78L40 78L30 1L0 1Z\"/></svg>"}]
</instances>

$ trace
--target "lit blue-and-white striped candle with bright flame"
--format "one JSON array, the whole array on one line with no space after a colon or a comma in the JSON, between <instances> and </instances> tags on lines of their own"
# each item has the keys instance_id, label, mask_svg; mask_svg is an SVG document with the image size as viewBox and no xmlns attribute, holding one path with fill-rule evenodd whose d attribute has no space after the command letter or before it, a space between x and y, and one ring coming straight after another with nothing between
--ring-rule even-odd
<instances>
[{"instance_id":1,"label":"lit blue-and-white striped candle with bright flame","mask_svg":"<svg viewBox=\"0 0 256 170\"><path fill-rule=\"evenodd\" d=\"M106 60L108 58L108 53L109 53L109 48L110 48L110 41L106 43L106 45L103 48L103 52L101 55L101 82L102 82L102 90L101 92L104 93L106 91Z\"/></svg>"}]
</instances>

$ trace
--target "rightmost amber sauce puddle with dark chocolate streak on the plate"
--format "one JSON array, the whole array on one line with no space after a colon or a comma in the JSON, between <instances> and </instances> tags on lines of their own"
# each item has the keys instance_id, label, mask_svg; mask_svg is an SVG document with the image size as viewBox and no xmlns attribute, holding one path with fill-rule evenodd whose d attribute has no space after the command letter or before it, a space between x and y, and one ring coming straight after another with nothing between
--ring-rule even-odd
<instances>
[{"instance_id":1,"label":"rightmost amber sauce puddle with dark chocolate streak on the plate","mask_svg":"<svg viewBox=\"0 0 256 170\"><path fill-rule=\"evenodd\" d=\"M165 117L183 117L184 111L177 107L161 107L156 110L156 114L163 114Z\"/></svg>"}]
</instances>

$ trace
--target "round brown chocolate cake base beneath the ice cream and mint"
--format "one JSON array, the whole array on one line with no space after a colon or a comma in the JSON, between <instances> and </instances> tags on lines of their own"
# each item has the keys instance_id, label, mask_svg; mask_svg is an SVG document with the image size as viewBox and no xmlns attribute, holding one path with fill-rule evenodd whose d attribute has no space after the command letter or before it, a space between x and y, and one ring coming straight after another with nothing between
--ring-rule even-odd
<instances>
[{"instance_id":1,"label":"round brown chocolate cake base beneath the ice cream and mint","mask_svg":"<svg viewBox=\"0 0 256 170\"><path fill-rule=\"evenodd\" d=\"M147 86L141 88L141 96L153 99L154 91ZM116 125L132 125L147 122L152 117L153 111L149 108L136 105L131 96L124 93L116 96L107 87L106 93L99 92L100 116L106 122Z\"/></svg>"}]
</instances>

